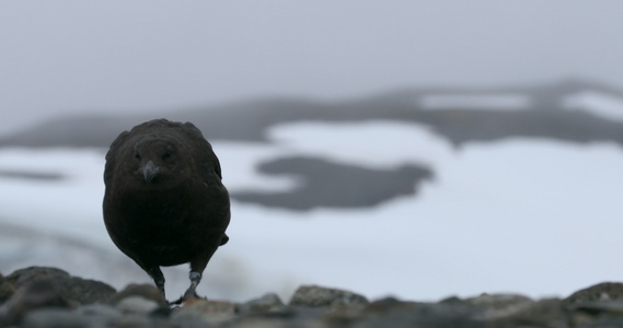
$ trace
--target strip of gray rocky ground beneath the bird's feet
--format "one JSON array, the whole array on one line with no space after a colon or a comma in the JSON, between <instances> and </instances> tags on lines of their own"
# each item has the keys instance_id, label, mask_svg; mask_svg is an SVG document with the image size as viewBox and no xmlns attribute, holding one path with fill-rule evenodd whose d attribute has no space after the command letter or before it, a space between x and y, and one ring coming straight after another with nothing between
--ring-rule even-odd
<instances>
[{"instance_id":1,"label":"strip of gray rocky ground beneath the bird's feet","mask_svg":"<svg viewBox=\"0 0 623 328\"><path fill-rule=\"evenodd\" d=\"M0 327L623 327L623 283L600 283L566 298L519 294L437 303L382 298L316 285L284 303L191 300L171 307L148 284L116 291L56 268L0 274Z\"/></svg>"}]
</instances>

